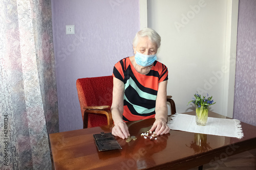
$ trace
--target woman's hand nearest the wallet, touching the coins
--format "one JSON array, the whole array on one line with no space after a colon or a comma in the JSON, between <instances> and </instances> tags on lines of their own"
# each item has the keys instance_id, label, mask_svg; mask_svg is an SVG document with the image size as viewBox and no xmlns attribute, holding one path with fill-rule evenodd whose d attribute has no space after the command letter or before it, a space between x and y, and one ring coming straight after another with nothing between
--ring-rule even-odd
<instances>
[{"instance_id":1,"label":"woman's hand nearest the wallet, touching the coins","mask_svg":"<svg viewBox=\"0 0 256 170\"><path fill-rule=\"evenodd\" d=\"M115 123L115 126L112 129L112 134L122 139L125 139L128 136L130 136L128 127L124 122L118 122L117 124Z\"/></svg>"}]
</instances>

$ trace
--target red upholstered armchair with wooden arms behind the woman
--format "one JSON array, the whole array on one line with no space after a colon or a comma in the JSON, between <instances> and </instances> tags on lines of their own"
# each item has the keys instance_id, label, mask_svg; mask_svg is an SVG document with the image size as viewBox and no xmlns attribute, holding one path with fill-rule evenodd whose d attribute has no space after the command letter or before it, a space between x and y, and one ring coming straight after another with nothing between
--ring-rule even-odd
<instances>
[{"instance_id":1,"label":"red upholstered armchair with wooden arms behind the woman","mask_svg":"<svg viewBox=\"0 0 256 170\"><path fill-rule=\"evenodd\" d=\"M80 103L83 128L112 125L110 111L112 105L113 77L103 76L77 79L76 88ZM171 113L176 113L175 103L171 95L167 95Z\"/></svg>"}]
</instances>

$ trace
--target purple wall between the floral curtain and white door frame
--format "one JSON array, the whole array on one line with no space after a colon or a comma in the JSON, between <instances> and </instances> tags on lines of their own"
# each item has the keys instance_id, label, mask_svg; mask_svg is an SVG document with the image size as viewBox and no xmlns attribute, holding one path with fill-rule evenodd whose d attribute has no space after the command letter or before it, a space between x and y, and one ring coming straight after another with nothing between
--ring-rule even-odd
<instances>
[{"instance_id":1,"label":"purple wall between the floral curtain and white door frame","mask_svg":"<svg viewBox=\"0 0 256 170\"><path fill-rule=\"evenodd\" d=\"M82 129L76 80L112 75L120 59L132 56L139 31L139 1L52 1L59 131ZM66 35L75 25L75 35Z\"/></svg>"}]
</instances>

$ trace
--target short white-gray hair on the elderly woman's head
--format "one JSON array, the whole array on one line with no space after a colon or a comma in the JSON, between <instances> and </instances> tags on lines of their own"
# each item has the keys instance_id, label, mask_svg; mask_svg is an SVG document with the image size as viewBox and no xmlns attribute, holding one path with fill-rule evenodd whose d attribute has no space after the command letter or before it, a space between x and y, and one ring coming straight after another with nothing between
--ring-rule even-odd
<instances>
[{"instance_id":1,"label":"short white-gray hair on the elderly woman's head","mask_svg":"<svg viewBox=\"0 0 256 170\"><path fill-rule=\"evenodd\" d=\"M157 44L157 48L161 45L161 37L160 35L153 29L143 28L135 35L133 39L133 46L136 47L139 42L139 38L147 36L153 43Z\"/></svg>"}]
</instances>

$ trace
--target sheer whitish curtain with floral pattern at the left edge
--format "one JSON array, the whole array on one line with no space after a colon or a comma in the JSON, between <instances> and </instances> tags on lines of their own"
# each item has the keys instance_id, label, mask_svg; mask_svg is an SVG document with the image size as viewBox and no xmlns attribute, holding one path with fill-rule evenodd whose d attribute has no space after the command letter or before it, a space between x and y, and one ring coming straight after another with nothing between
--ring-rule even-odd
<instances>
[{"instance_id":1,"label":"sheer whitish curtain with floral pattern at the left edge","mask_svg":"<svg viewBox=\"0 0 256 170\"><path fill-rule=\"evenodd\" d=\"M51 0L0 1L0 169L51 169L58 132Z\"/></svg>"}]
</instances>

